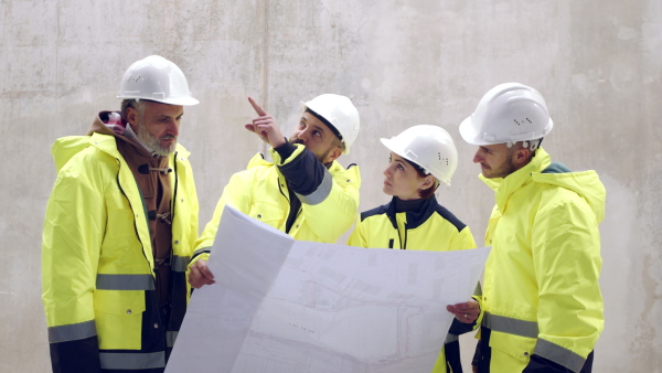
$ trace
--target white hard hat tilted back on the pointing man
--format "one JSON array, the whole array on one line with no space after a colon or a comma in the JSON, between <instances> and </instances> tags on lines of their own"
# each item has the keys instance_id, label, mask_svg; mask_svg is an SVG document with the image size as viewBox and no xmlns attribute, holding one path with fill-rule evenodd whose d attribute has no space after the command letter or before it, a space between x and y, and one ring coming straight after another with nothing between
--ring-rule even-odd
<instances>
[{"instance_id":1,"label":"white hard hat tilted back on the pointing man","mask_svg":"<svg viewBox=\"0 0 662 373\"><path fill-rule=\"evenodd\" d=\"M301 104L303 110L314 111L338 130L339 138L345 146L343 153L350 153L350 147L354 143L360 127L359 110L356 110L354 104L348 97L334 94L320 95L308 103ZM333 128L331 129L333 130Z\"/></svg>"}]
</instances>

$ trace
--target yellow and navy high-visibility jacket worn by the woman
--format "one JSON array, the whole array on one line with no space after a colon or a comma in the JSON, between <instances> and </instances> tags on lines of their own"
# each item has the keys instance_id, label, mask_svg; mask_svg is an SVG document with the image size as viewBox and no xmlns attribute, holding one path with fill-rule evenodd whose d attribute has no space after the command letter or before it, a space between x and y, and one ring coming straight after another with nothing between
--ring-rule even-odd
<instances>
[{"instance_id":1,"label":"yellow and navy high-visibility jacket worn by the woman","mask_svg":"<svg viewBox=\"0 0 662 373\"><path fill-rule=\"evenodd\" d=\"M469 227L441 206L434 195L414 201L393 198L385 205L362 212L348 244L428 252L476 248ZM460 322L453 320L453 327L458 326ZM472 329L472 326L467 324L459 329L451 328L433 372L461 372L457 334Z\"/></svg>"}]
</instances>

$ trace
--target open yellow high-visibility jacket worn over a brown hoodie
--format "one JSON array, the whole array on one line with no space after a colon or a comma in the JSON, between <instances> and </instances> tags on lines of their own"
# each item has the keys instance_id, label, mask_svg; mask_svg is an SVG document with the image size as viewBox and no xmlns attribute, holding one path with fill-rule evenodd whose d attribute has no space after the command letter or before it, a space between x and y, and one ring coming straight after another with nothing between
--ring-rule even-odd
<instances>
[{"instance_id":1,"label":"open yellow high-visibility jacket worn over a brown hoodie","mask_svg":"<svg viewBox=\"0 0 662 373\"><path fill-rule=\"evenodd\" d=\"M53 370L162 370L184 317L185 271L197 237L189 152L178 145L169 162L168 324L161 321L154 291L147 211L116 139L98 132L65 137L52 152L58 173L45 213L42 300Z\"/></svg>"}]
</instances>

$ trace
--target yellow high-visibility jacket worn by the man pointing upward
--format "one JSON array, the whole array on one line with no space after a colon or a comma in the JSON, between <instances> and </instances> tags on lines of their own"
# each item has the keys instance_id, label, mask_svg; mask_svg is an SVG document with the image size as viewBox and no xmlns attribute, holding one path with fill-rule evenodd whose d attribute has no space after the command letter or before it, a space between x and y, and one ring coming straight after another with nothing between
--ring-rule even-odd
<instances>
[{"instance_id":1,"label":"yellow high-visibility jacket worn by the man pointing upward","mask_svg":"<svg viewBox=\"0 0 662 373\"><path fill-rule=\"evenodd\" d=\"M209 258L225 204L286 232L290 213L291 184L288 184L288 180L295 178L301 178L302 182L312 181L313 190L308 194L299 194L295 189L301 207L286 233L300 241L335 243L352 226L359 209L359 167L345 170L333 161L327 169L305 146L295 146L296 150L285 161L281 161L277 151L270 149L274 163L256 154L247 170L231 178L216 204L214 216L195 244L192 264L200 258Z\"/></svg>"}]
</instances>

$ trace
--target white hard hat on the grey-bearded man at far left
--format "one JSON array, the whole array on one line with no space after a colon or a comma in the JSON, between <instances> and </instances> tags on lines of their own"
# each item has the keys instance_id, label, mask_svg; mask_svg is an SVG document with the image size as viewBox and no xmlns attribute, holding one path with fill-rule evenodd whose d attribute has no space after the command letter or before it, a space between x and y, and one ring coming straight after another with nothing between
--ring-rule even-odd
<instances>
[{"instance_id":1,"label":"white hard hat on the grey-bearded man at far left","mask_svg":"<svg viewBox=\"0 0 662 373\"><path fill-rule=\"evenodd\" d=\"M149 99L169 105L197 105L191 97L184 73L171 61L150 55L134 62L119 88L119 98Z\"/></svg>"}]
</instances>

